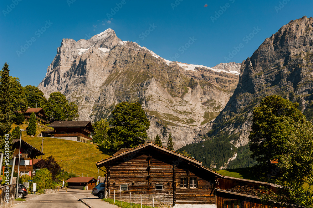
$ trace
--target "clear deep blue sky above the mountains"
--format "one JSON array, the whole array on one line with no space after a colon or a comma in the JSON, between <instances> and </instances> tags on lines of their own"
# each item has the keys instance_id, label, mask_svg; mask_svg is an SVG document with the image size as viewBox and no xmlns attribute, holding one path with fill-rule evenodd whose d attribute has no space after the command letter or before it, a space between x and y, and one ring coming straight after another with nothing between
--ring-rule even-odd
<instances>
[{"instance_id":1,"label":"clear deep blue sky above the mountains","mask_svg":"<svg viewBox=\"0 0 313 208\"><path fill-rule=\"evenodd\" d=\"M0 8L0 64L23 86L44 79L63 38L112 28L165 59L213 67L241 63L290 20L313 16L311 0L2 0Z\"/></svg>"}]
</instances>

